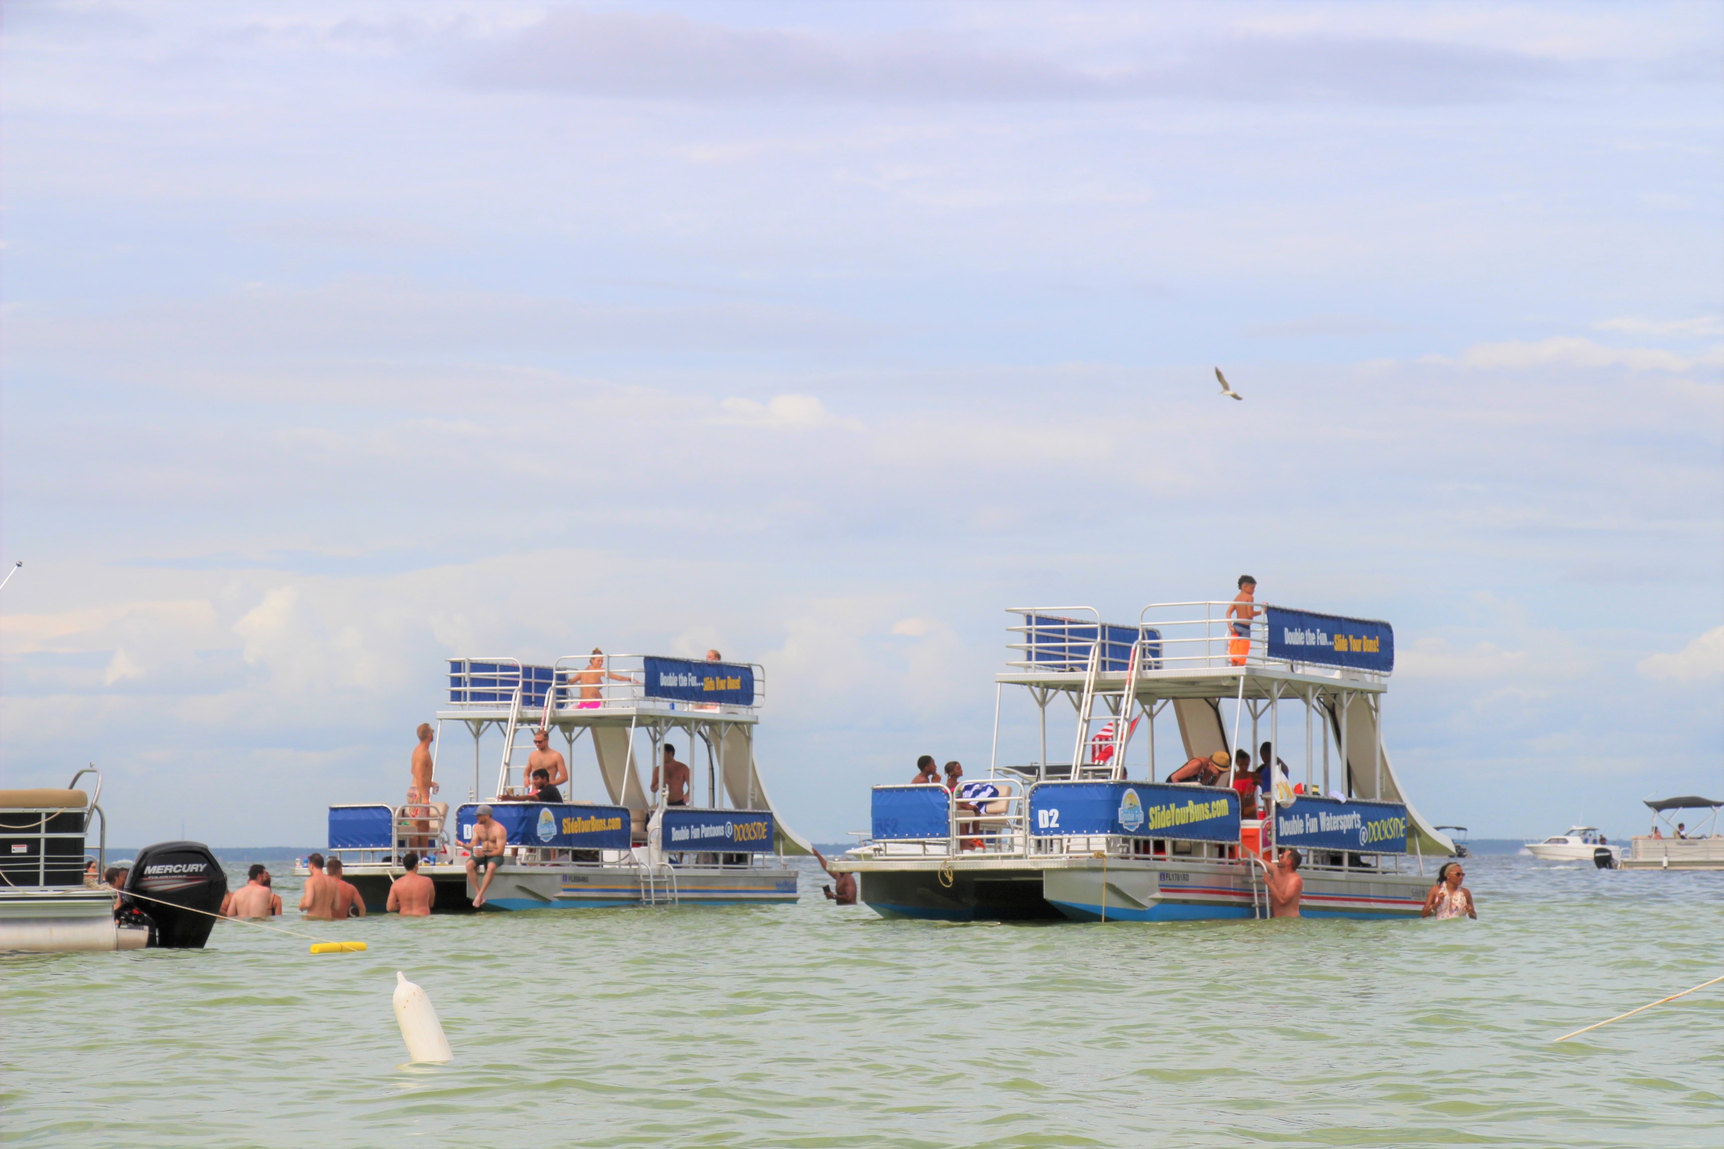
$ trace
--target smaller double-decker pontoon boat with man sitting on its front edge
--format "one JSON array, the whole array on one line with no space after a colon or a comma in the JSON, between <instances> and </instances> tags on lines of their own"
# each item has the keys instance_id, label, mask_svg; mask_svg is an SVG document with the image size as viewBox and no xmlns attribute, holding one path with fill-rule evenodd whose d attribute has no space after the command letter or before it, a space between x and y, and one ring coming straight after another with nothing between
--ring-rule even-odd
<instances>
[{"instance_id":1,"label":"smaller double-decker pontoon boat with man sitting on its front edge","mask_svg":"<svg viewBox=\"0 0 1724 1149\"><path fill-rule=\"evenodd\" d=\"M809 844L774 813L753 756L765 675L755 663L655 655L571 655L531 665L514 658L453 658L448 703L436 715L433 767L447 786L443 730L472 734L472 791L457 806L409 801L329 808L329 854L381 911L409 853L436 885L438 911L469 910L467 854L481 803L509 834L507 861L486 891L495 910L590 910L631 904L734 904L796 899L784 854ZM484 786L481 737L502 732L495 784ZM574 748L593 748L605 799L528 801L526 760L534 729L562 736L574 782ZM526 736L526 742L522 741ZM676 737L681 736L681 737ZM672 737L676 741L672 742ZM688 755L690 801L705 765L705 806L671 806L667 779L641 784L646 765L674 744ZM484 796L484 798L481 798ZM297 873L307 873L303 865Z\"/></svg>"}]
</instances>

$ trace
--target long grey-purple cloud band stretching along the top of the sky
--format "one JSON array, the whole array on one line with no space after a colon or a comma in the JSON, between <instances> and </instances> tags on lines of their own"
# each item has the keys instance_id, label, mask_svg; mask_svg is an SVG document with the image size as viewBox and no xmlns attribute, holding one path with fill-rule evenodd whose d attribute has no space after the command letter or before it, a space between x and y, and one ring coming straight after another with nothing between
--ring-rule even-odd
<instances>
[{"instance_id":1,"label":"long grey-purple cloud band stretching along the top of the sky","mask_svg":"<svg viewBox=\"0 0 1724 1149\"><path fill-rule=\"evenodd\" d=\"M553 10L450 59L484 88L646 100L1471 103L1515 96L1583 64L1433 40L1221 34L1165 38L1122 65L1074 67L934 31L836 38L683 16Z\"/></svg>"}]
</instances>

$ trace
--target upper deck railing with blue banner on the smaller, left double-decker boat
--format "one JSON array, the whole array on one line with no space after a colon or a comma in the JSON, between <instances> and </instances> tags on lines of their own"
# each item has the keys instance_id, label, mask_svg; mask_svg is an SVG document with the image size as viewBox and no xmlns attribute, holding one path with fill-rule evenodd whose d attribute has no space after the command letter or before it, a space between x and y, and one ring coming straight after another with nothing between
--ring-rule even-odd
<instances>
[{"instance_id":1,"label":"upper deck railing with blue banner on the smaller, left double-decker boat","mask_svg":"<svg viewBox=\"0 0 1724 1149\"><path fill-rule=\"evenodd\" d=\"M517 658L450 658L448 706L581 715L643 706L752 713L765 698L759 663L700 661L667 655L564 655L552 665Z\"/></svg>"}]
</instances>

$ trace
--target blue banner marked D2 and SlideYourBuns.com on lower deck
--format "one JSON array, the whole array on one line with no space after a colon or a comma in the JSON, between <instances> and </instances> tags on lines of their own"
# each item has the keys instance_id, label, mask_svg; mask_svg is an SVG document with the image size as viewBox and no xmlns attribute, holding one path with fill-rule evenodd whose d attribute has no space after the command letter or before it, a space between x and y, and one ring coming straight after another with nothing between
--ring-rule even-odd
<instances>
[{"instance_id":1,"label":"blue banner marked D2 and SlideYourBuns.com on lower deck","mask_svg":"<svg viewBox=\"0 0 1724 1149\"><path fill-rule=\"evenodd\" d=\"M1240 841L1240 796L1164 782L1041 782L1029 791L1029 832Z\"/></svg>"}]
</instances>

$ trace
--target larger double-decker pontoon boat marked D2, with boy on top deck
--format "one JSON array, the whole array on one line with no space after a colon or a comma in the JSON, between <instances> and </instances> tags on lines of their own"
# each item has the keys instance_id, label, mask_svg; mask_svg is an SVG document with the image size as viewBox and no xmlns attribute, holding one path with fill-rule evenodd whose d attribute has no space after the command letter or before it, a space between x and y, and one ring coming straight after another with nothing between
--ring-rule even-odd
<instances>
[{"instance_id":1,"label":"larger double-decker pontoon boat marked D2, with boy on top deck","mask_svg":"<svg viewBox=\"0 0 1724 1149\"><path fill-rule=\"evenodd\" d=\"M1246 625L1227 606L1157 603L1136 625L1088 606L1010 608L986 779L955 794L874 787L867 839L833 868L859 873L862 899L888 916L1252 918L1269 915L1265 863L1291 846L1303 856L1303 915L1417 916L1433 880L1426 858L1455 846L1405 801L1383 749L1393 629L1281 606L1259 606ZM1007 687L1034 703L1034 760L1002 760L1002 734L1015 732L1002 725ZM1076 730L1055 760L1059 703L1072 706ZM1288 705L1305 717L1305 779L1276 779L1264 817L1241 818L1231 777L1157 780L1234 746L1248 746L1255 767L1264 741L1279 761ZM1155 718L1167 711L1183 751L1172 767L1157 761ZM1131 765L1140 724L1143 758Z\"/></svg>"}]
</instances>

